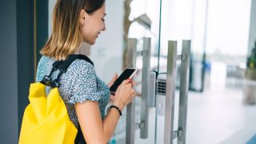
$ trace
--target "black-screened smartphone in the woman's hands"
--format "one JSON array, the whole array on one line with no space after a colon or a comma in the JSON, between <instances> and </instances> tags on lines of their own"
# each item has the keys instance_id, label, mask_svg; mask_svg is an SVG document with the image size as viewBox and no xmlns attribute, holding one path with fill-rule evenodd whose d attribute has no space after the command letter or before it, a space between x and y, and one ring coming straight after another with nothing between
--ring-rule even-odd
<instances>
[{"instance_id":1,"label":"black-screened smartphone in the woman's hands","mask_svg":"<svg viewBox=\"0 0 256 144\"><path fill-rule=\"evenodd\" d=\"M113 85L110 86L110 93L114 94L122 81L126 80L127 78L132 78L136 71L137 70L134 68L126 68L126 70L123 70L122 74L117 78L117 80L114 81Z\"/></svg>"}]
</instances>

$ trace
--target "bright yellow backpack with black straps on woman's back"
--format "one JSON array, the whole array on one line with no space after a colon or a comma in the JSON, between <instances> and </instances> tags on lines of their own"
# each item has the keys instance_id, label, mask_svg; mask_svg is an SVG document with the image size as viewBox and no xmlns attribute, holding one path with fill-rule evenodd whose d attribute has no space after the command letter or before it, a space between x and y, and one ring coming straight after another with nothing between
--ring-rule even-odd
<instances>
[{"instance_id":1,"label":"bright yellow backpack with black straps on woman's back","mask_svg":"<svg viewBox=\"0 0 256 144\"><path fill-rule=\"evenodd\" d=\"M92 63L82 54L70 54L66 61L54 62L53 69L42 82L30 84L30 104L26 106L23 115L19 144L70 144L78 140L77 135L79 138L82 137L81 130L78 132L74 123L70 121L65 103L58 93L60 77L75 59L84 59ZM58 78L52 80L51 74L55 70L59 70ZM53 88L48 96L46 86ZM84 142L83 137L82 139Z\"/></svg>"}]
</instances>

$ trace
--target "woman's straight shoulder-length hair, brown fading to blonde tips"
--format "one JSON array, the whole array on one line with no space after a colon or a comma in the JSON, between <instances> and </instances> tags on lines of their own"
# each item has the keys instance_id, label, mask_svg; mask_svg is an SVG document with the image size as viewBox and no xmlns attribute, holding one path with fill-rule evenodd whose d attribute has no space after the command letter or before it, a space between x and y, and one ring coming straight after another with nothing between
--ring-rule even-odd
<instances>
[{"instance_id":1,"label":"woman's straight shoulder-length hair, brown fading to blonde tips","mask_svg":"<svg viewBox=\"0 0 256 144\"><path fill-rule=\"evenodd\" d=\"M65 60L74 54L82 43L79 16L80 11L93 14L102 7L105 0L58 0L53 12L53 31L40 54L55 60Z\"/></svg>"}]
</instances>

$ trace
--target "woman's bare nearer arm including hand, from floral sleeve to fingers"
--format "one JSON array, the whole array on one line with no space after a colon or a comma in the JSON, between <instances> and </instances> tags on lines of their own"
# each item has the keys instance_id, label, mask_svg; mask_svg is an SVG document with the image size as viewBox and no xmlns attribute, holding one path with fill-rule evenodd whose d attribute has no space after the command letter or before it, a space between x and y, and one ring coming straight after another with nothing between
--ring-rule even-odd
<instances>
[{"instance_id":1,"label":"woman's bare nearer arm including hand, from floral sleeve to fingers","mask_svg":"<svg viewBox=\"0 0 256 144\"><path fill-rule=\"evenodd\" d=\"M114 106L118 106L120 110L123 110L124 106L134 98L133 82L130 81L123 81L115 93ZM87 143L106 144L110 140L120 117L118 110L110 109L104 120L102 120L98 101L75 103L75 110Z\"/></svg>"}]
</instances>

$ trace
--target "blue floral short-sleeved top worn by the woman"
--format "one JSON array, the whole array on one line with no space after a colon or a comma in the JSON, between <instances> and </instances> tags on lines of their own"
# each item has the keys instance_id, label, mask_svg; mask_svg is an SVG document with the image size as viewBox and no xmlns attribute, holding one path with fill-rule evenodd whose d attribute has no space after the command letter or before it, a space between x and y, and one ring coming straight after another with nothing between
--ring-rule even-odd
<instances>
[{"instance_id":1,"label":"blue floral short-sleeved top worn by the woman","mask_svg":"<svg viewBox=\"0 0 256 144\"><path fill-rule=\"evenodd\" d=\"M42 56L38 62L36 81L40 82L45 75L50 74L54 59ZM58 71L52 75L57 78ZM98 101L102 119L105 116L106 104L109 102L109 87L97 77L94 66L90 62L76 59L70 64L66 73L60 78L58 88L63 102L66 105L70 120L78 128L78 117L74 109L75 102ZM46 94L49 94L50 87L46 87Z\"/></svg>"}]
</instances>

